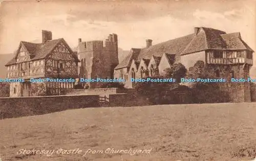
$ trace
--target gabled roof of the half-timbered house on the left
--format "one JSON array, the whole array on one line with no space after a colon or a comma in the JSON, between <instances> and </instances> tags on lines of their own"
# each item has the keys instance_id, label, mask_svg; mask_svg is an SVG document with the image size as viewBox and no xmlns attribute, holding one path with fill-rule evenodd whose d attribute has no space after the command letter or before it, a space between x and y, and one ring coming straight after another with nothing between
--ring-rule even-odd
<instances>
[{"instance_id":1,"label":"gabled roof of the half-timbered house on the left","mask_svg":"<svg viewBox=\"0 0 256 161\"><path fill-rule=\"evenodd\" d=\"M71 54L74 56L75 60L79 62L77 56L73 53L72 49L69 47L67 42L63 38L60 38L60 39L55 39L55 40L47 41L45 44L20 41L18 50L16 51L16 54L15 54L15 57L12 58L12 60L9 61L6 64L6 66L16 63L16 58L18 56L19 48L21 46L24 46L26 48L26 50L29 52L30 60L38 60L38 59L46 58L50 54L50 52L60 42L64 43L68 47L68 49L70 50Z\"/></svg>"}]
</instances>

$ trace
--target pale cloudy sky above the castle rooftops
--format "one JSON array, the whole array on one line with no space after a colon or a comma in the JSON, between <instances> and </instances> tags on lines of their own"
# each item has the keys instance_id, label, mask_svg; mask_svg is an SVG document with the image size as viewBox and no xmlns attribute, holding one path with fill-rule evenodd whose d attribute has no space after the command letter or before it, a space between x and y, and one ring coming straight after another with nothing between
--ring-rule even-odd
<instances>
[{"instance_id":1,"label":"pale cloudy sky above the castle rooftops","mask_svg":"<svg viewBox=\"0 0 256 161\"><path fill-rule=\"evenodd\" d=\"M0 54L13 53L20 41L41 42L41 30L64 38L73 48L82 41L118 35L123 50L192 34L194 27L240 32L256 50L255 1L15 1L0 5Z\"/></svg>"}]
</instances>

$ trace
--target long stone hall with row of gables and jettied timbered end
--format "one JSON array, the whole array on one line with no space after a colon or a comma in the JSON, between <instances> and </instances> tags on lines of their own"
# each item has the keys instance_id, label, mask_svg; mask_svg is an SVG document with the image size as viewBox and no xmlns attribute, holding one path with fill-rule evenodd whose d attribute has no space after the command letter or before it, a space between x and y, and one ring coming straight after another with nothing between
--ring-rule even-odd
<instances>
[{"instance_id":1,"label":"long stone hall with row of gables and jettied timbered end","mask_svg":"<svg viewBox=\"0 0 256 161\"><path fill-rule=\"evenodd\" d=\"M133 88L131 78L161 75L174 63L182 63L188 70L197 61L208 66L212 77L249 77L254 51L243 41L240 33L227 34L211 28L194 28L194 33L152 45L132 48L130 54L116 66L114 76L126 79L125 87ZM148 63L149 62L149 63ZM250 101L249 83L226 83L232 101Z\"/></svg>"}]
</instances>

